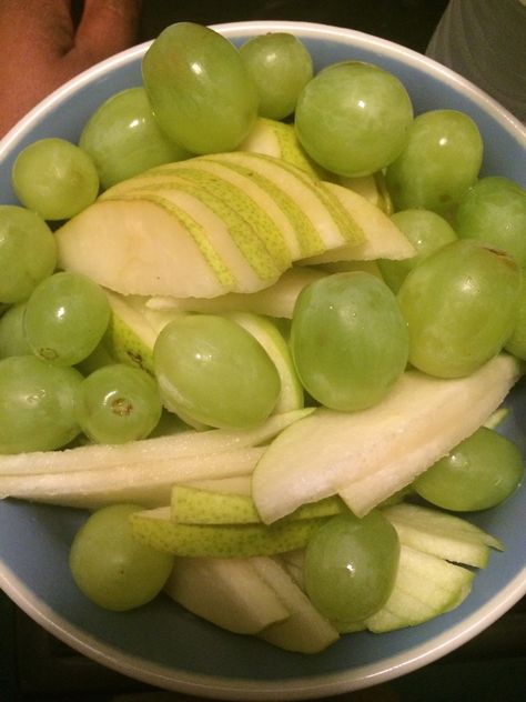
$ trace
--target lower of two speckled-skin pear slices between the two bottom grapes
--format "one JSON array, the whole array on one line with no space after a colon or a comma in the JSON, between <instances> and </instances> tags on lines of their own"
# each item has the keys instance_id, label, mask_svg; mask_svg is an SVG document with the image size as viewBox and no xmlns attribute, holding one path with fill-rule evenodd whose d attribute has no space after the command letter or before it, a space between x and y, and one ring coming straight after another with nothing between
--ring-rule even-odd
<instances>
[{"instance_id":1,"label":"lower of two speckled-skin pear slices between the two bottom grapes","mask_svg":"<svg viewBox=\"0 0 526 702\"><path fill-rule=\"evenodd\" d=\"M326 518L289 520L279 524L181 524L160 507L130 515L134 536L173 555L249 558L304 546Z\"/></svg>"}]
</instances>

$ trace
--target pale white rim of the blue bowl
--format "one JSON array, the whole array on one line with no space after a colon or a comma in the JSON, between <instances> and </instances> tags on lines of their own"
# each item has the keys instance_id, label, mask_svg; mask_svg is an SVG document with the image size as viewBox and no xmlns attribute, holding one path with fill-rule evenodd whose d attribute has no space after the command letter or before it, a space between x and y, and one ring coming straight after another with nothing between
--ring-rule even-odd
<instances>
[{"instance_id":1,"label":"pale white rim of the blue bowl","mask_svg":"<svg viewBox=\"0 0 526 702\"><path fill-rule=\"evenodd\" d=\"M385 56L408 63L419 71L431 73L435 78L445 79L455 90L467 93L472 101L492 114L499 126L515 139L519 148L526 149L526 126L506 108L451 69L393 41L354 29L314 22L265 20L227 22L211 24L211 27L215 31L226 34L229 39L242 38L246 34L262 34L279 28L280 31L289 31L300 38L326 39L352 46L357 43L376 52L380 51ZM117 70L140 59L151 43L151 41L146 41L136 44L97 63L44 98L0 140L0 161L7 153L17 148L28 131L50 109L85 84L104 76L109 70ZM504 590L494 595L476 613L471 614L446 632L434 636L425 644L413 646L404 651L403 654L384 659L382 663L355 666L351 671L274 680L218 678L209 674L190 673L151 662L149 662L146 671L138 672L140 660L131 654L123 655L118 648L108 645L91 634L85 634L61 615L57 615L2 562L0 562L0 588L31 619L51 634L92 660L135 680L165 690L214 699L246 702L246 700L267 700L269 695L272 695L274 700L306 700L341 694L386 682L427 665L457 649L494 623L526 594L526 565Z\"/></svg>"}]
</instances>

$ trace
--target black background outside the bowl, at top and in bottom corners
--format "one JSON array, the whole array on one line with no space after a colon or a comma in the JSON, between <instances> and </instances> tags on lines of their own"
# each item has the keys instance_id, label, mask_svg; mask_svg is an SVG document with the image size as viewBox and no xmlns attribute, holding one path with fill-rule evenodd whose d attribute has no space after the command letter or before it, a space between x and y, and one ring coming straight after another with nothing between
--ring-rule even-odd
<instances>
[{"instance_id":1,"label":"black background outside the bowl, at top and in bottom corners","mask_svg":"<svg viewBox=\"0 0 526 702\"><path fill-rule=\"evenodd\" d=\"M482 2L484 0L481 0ZM301 20L347 27L425 52L446 0L143 0L138 41L181 20ZM79 3L80 7L80 3ZM333 702L522 702L526 605L402 679ZM101 668L55 640L0 592L0 702L189 702ZM271 701L270 701L271 702Z\"/></svg>"}]
</instances>

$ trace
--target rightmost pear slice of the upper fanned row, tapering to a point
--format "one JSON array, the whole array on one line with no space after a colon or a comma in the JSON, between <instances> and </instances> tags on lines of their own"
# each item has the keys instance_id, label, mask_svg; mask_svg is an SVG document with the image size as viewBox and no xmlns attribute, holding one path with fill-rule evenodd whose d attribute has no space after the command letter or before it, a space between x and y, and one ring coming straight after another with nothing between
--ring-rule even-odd
<instances>
[{"instance_id":1,"label":"rightmost pear slice of the upper fanned row, tapering to a point","mask_svg":"<svg viewBox=\"0 0 526 702\"><path fill-rule=\"evenodd\" d=\"M385 212L368 202L366 198L336 183L325 183L325 188L340 200L356 224L365 232L366 239L357 245L334 248L320 255L306 258L303 263L315 265L335 261L401 260L416 254L407 237Z\"/></svg>"}]
</instances>

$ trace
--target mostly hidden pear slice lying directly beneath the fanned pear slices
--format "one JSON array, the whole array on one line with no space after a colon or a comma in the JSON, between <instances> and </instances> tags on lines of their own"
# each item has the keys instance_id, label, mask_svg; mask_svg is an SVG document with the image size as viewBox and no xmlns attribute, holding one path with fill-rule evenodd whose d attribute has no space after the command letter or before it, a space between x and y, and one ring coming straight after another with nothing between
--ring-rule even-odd
<instances>
[{"instance_id":1,"label":"mostly hidden pear slice lying directly beneath the fanned pear slices","mask_svg":"<svg viewBox=\"0 0 526 702\"><path fill-rule=\"evenodd\" d=\"M308 267L292 267L273 285L252 293L230 292L216 298L170 298L154 295L148 299L151 310L176 312L222 313L245 311L267 317L292 319L294 305L300 292L324 278L325 271ZM380 273L378 273L380 275Z\"/></svg>"}]
</instances>

